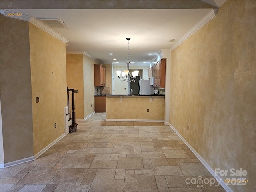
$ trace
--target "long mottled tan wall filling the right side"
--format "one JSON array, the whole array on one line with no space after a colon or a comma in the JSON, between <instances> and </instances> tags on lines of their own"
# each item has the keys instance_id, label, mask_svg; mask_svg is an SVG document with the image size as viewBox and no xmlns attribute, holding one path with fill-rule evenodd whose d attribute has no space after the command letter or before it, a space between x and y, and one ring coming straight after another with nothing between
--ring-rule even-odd
<instances>
[{"instance_id":1,"label":"long mottled tan wall filling the right side","mask_svg":"<svg viewBox=\"0 0 256 192\"><path fill-rule=\"evenodd\" d=\"M248 172L234 191L256 191L255 34L256 1L228 1L171 53L170 124L213 170Z\"/></svg>"}]
</instances>

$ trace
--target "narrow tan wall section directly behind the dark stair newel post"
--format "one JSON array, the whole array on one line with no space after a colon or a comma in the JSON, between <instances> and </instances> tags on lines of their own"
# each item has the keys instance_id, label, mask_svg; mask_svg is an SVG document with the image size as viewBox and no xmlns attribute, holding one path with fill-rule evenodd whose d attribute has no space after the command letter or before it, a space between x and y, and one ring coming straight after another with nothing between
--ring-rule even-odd
<instances>
[{"instance_id":1,"label":"narrow tan wall section directly behind the dark stair newel post","mask_svg":"<svg viewBox=\"0 0 256 192\"><path fill-rule=\"evenodd\" d=\"M84 54L66 54L67 85L78 90L75 96L76 119L84 119ZM72 101L71 101L72 102Z\"/></svg>"}]
</instances>

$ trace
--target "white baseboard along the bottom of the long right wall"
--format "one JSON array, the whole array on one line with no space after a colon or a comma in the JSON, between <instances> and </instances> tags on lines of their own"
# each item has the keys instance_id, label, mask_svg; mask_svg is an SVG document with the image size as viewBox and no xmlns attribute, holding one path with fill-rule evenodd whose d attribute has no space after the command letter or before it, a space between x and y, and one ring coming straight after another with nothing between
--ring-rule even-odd
<instances>
[{"instance_id":1,"label":"white baseboard along the bottom of the long right wall","mask_svg":"<svg viewBox=\"0 0 256 192\"><path fill-rule=\"evenodd\" d=\"M174 130L174 132L181 138L181 140L186 144L186 146L188 146L188 148L190 148L190 150L194 153L194 155L200 160L200 162L205 166L205 168L210 172L210 174L212 174L212 176L218 181L220 182L220 185L224 188L224 190L226 190L226 192L233 192L232 189L230 189L226 183L224 183L224 180L222 178L220 178L220 176L215 175L214 170L210 167L210 165L196 152L196 150L194 150L194 148L192 148L192 146L181 136L181 134L170 124L170 123L164 123L166 125L169 125L172 130Z\"/></svg>"}]
</instances>

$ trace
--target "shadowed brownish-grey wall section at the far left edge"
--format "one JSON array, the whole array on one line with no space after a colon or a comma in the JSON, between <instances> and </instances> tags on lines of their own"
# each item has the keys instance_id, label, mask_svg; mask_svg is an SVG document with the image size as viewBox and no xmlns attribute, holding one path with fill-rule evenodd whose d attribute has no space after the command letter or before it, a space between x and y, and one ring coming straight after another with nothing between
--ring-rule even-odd
<instances>
[{"instance_id":1,"label":"shadowed brownish-grey wall section at the far left edge","mask_svg":"<svg viewBox=\"0 0 256 192\"><path fill-rule=\"evenodd\" d=\"M28 22L0 14L4 163L34 156ZM13 38L15 37L15 38ZM33 100L34 101L34 100Z\"/></svg>"}]
</instances>

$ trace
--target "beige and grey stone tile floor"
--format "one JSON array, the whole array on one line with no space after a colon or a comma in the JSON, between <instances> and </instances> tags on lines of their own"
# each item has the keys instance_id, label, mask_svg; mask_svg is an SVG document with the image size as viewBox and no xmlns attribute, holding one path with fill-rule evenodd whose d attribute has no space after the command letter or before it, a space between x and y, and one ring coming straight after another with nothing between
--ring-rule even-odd
<instances>
[{"instance_id":1,"label":"beige and grey stone tile floor","mask_svg":"<svg viewBox=\"0 0 256 192\"><path fill-rule=\"evenodd\" d=\"M38 159L1 169L0 192L225 191L163 122L105 119L95 113Z\"/></svg>"}]
</instances>

